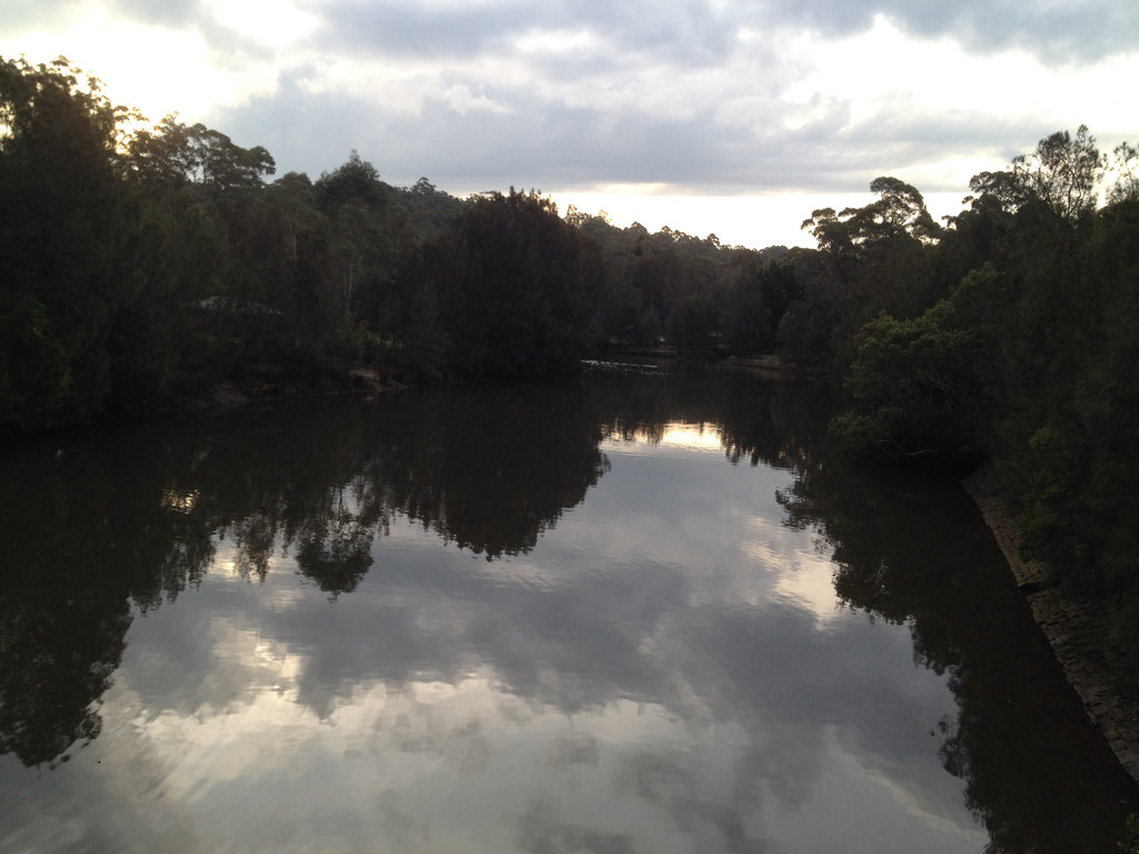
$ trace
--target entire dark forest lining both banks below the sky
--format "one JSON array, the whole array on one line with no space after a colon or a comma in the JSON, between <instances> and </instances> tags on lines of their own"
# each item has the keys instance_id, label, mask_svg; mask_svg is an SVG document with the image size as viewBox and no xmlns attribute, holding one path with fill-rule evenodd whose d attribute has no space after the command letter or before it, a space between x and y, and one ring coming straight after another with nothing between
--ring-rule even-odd
<instances>
[{"instance_id":1,"label":"entire dark forest lining both banks below the sky","mask_svg":"<svg viewBox=\"0 0 1139 854\"><path fill-rule=\"evenodd\" d=\"M851 458L991 471L1021 545L1139 650L1139 153L1058 131L956 216L890 176L818 248L723 246L540 192L316 180L65 59L0 59L0 430L249 394L540 378L615 348L765 355L829 384ZM1133 678L1133 676L1132 676Z\"/></svg>"}]
</instances>

